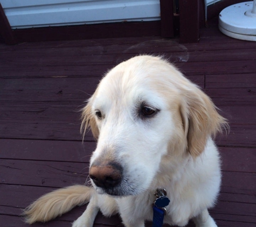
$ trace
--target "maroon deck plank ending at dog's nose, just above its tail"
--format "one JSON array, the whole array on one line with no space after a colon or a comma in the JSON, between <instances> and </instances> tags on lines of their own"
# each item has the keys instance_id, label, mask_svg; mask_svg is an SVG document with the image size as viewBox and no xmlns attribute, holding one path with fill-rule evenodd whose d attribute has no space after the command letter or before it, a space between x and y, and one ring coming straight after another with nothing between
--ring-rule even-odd
<instances>
[{"instance_id":1,"label":"maroon deck plank ending at dog's nose, just above its tail","mask_svg":"<svg viewBox=\"0 0 256 227\"><path fill-rule=\"evenodd\" d=\"M44 187L84 184L88 162L0 160L2 183Z\"/></svg>"}]
</instances>

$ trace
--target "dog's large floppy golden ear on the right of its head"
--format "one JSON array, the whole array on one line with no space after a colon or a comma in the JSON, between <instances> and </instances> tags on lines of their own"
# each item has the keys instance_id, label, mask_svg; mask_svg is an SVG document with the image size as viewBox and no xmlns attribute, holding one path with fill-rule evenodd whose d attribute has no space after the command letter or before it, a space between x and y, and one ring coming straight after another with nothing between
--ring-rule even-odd
<instances>
[{"instance_id":1,"label":"dog's large floppy golden ear on the right of its head","mask_svg":"<svg viewBox=\"0 0 256 227\"><path fill-rule=\"evenodd\" d=\"M207 139L227 127L227 122L211 99L196 86L183 91L183 95L181 115L187 147L192 157L197 157L204 151Z\"/></svg>"}]
</instances>

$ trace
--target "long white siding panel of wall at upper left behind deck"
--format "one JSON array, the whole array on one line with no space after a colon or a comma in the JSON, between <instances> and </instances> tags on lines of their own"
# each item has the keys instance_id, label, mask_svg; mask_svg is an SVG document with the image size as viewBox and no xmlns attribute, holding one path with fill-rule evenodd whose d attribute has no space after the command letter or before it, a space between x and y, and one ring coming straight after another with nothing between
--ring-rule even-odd
<instances>
[{"instance_id":1,"label":"long white siding panel of wall at upper left behind deck","mask_svg":"<svg viewBox=\"0 0 256 227\"><path fill-rule=\"evenodd\" d=\"M160 20L160 0L0 0L12 29Z\"/></svg>"}]
</instances>

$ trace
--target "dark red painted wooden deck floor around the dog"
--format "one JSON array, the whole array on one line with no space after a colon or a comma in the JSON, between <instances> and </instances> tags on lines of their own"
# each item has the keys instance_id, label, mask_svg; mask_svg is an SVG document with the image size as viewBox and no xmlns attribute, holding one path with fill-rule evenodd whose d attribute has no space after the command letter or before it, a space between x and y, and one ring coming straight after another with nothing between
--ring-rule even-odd
<instances>
[{"instance_id":1,"label":"dark red painted wooden deck floor around the dog","mask_svg":"<svg viewBox=\"0 0 256 227\"><path fill-rule=\"evenodd\" d=\"M256 42L224 36L217 20L209 24L198 44L160 37L0 44L1 226L29 226L21 209L86 181L95 142L91 134L81 142L79 109L109 68L140 53L175 62L229 119L229 135L216 140L223 182L210 212L221 227L256 226ZM85 207L32 226L71 226ZM94 226L122 224L98 215Z\"/></svg>"}]
</instances>

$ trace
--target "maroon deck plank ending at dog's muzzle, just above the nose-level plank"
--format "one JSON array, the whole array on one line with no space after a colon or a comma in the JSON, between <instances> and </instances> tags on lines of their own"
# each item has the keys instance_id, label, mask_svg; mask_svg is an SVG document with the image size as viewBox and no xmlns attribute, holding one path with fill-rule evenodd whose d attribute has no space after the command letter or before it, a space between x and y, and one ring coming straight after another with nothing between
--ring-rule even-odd
<instances>
[{"instance_id":1,"label":"maroon deck plank ending at dog's muzzle, just above the nose-level plank","mask_svg":"<svg viewBox=\"0 0 256 227\"><path fill-rule=\"evenodd\" d=\"M95 142L1 139L1 159L89 162Z\"/></svg>"}]
</instances>

